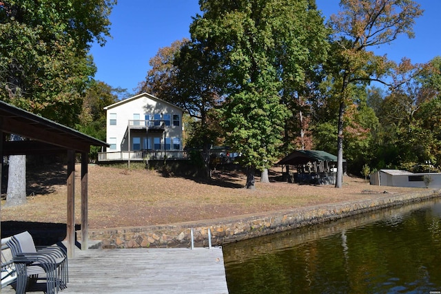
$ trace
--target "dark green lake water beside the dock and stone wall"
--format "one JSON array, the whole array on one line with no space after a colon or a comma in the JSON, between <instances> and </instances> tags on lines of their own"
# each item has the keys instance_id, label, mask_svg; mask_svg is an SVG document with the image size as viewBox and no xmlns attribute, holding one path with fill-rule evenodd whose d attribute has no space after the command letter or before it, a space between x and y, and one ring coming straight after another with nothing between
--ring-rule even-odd
<instances>
[{"instance_id":1,"label":"dark green lake water beside the dock and stone wall","mask_svg":"<svg viewBox=\"0 0 441 294\"><path fill-rule=\"evenodd\" d=\"M229 293L441 293L441 199L223 247Z\"/></svg>"}]
</instances>

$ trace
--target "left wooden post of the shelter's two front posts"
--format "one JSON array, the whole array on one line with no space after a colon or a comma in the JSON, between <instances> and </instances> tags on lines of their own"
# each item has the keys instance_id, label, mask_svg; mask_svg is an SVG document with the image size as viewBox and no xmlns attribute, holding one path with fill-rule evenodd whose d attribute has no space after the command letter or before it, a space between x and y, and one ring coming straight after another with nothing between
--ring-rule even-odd
<instances>
[{"instance_id":1,"label":"left wooden post of the shelter's two front posts","mask_svg":"<svg viewBox=\"0 0 441 294\"><path fill-rule=\"evenodd\" d=\"M75 151L68 150L68 220L67 240L68 258L74 257L75 252Z\"/></svg>"}]
</instances>

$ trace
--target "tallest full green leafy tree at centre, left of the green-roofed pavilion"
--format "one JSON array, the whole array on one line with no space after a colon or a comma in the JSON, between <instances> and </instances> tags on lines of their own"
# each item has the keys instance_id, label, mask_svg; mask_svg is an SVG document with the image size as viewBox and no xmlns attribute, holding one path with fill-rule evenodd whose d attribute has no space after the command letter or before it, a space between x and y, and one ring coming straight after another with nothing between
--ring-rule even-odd
<instances>
[{"instance_id":1,"label":"tallest full green leafy tree at centre, left of the green-roofed pavilion","mask_svg":"<svg viewBox=\"0 0 441 294\"><path fill-rule=\"evenodd\" d=\"M282 144L289 114L281 103L282 81L302 81L308 45L322 43L325 28L309 1L200 3L204 13L190 27L192 39L211 46L220 58L226 142L243 154L246 187L254 188L254 171L269 167Z\"/></svg>"}]
</instances>

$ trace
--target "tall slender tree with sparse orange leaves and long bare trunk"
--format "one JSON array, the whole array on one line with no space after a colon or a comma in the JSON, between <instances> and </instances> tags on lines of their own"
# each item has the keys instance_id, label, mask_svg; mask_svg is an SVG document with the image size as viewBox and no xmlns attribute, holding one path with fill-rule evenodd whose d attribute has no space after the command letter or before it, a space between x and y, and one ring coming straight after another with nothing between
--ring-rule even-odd
<instances>
[{"instance_id":1,"label":"tall slender tree with sparse orange leaves and long bare trunk","mask_svg":"<svg viewBox=\"0 0 441 294\"><path fill-rule=\"evenodd\" d=\"M381 81L391 63L376 56L369 48L391 43L400 34L413 37L413 23L422 14L420 5L411 0L341 0L340 11L331 16L334 31L334 71L329 76L338 98L338 167L336 187L342 185L343 117L351 103L351 85Z\"/></svg>"}]
</instances>

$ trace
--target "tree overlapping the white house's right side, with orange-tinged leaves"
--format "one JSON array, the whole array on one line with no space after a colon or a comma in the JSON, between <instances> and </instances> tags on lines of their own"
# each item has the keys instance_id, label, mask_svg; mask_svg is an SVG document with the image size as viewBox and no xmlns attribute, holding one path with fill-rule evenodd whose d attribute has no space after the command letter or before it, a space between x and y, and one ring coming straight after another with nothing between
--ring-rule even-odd
<instances>
[{"instance_id":1,"label":"tree overlapping the white house's right side, with orange-tinged leaves","mask_svg":"<svg viewBox=\"0 0 441 294\"><path fill-rule=\"evenodd\" d=\"M218 56L207 50L201 42L175 41L170 47L161 48L150 59L152 70L147 72L141 91L152 92L165 101L186 109L192 118L189 147L202 148L205 176L211 176L209 168L210 146L221 136L218 114L212 110L219 105ZM188 147L188 145L187 145Z\"/></svg>"}]
</instances>

